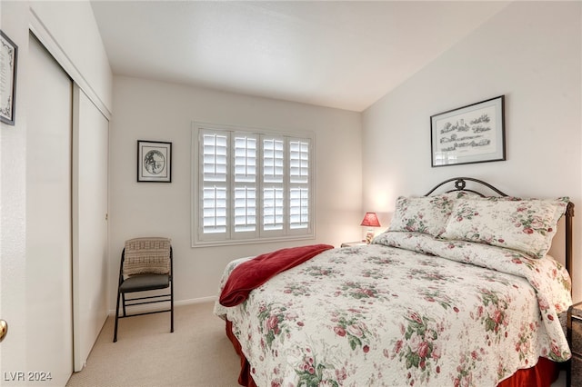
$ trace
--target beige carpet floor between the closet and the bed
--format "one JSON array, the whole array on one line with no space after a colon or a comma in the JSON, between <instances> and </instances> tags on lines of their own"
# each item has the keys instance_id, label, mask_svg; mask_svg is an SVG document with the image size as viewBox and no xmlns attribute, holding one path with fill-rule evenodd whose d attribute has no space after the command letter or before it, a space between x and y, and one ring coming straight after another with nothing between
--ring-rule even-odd
<instances>
[{"instance_id":1,"label":"beige carpet floor between the closet and the bed","mask_svg":"<svg viewBox=\"0 0 582 387\"><path fill-rule=\"evenodd\" d=\"M178 306L174 333L170 314L157 313L119 321L109 317L83 371L67 386L230 387L240 361L226 338L225 323L212 313L213 303Z\"/></svg>"}]
</instances>

